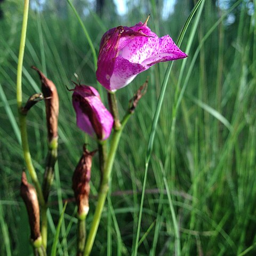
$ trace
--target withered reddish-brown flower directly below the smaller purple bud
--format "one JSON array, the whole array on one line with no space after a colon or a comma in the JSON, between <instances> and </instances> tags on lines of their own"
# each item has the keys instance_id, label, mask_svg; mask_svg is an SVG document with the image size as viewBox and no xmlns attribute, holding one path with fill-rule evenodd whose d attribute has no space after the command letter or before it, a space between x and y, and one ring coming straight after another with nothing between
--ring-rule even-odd
<instances>
[{"instance_id":1,"label":"withered reddish-brown flower directly below the smaller purple bud","mask_svg":"<svg viewBox=\"0 0 256 256\"><path fill-rule=\"evenodd\" d=\"M83 155L80 158L76 170L72 178L72 188L74 190L76 203L78 206L78 216L86 216L89 211L89 194L90 194L90 180L92 157L97 150L92 152L83 147Z\"/></svg>"}]
</instances>

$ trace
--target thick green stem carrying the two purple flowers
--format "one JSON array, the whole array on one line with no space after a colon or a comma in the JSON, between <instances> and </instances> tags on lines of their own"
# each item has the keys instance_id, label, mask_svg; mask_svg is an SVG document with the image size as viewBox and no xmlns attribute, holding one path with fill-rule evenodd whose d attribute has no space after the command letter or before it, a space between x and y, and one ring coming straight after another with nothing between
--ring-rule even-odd
<instances>
[{"instance_id":1,"label":"thick green stem carrying the two purple flowers","mask_svg":"<svg viewBox=\"0 0 256 256\"><path fill-rule=\"evenodd\" d=\"M118 147L119 140L121 138L123 129L125 124L127 123L128 119L132 113L127 113L122 121L122 124L119 126L119 130L114 131L113 138L111 139L111 145L110 145L110 150L108 154L108 158L106 161L106 165L104 168L103 172L103 177L101 180L101 185L100 185L100 191L98 195L98 204L96 206L94 215L93 215L93 220L92 220L92 226L90 229L89 236L87 237L87 242L85 244L85 250L84 250L84 256L90 255L92 246L95 240L95 236L97 234L97 230L99 227L100 219L101 219L101 214L103 211L103 207L105 205L107 193L108 193L108 183L109 183L109 178L111 175L111 171L113 169L113 164L114 164L114 159L116 156L116 150Z\"/></svg>"}]
</instances>

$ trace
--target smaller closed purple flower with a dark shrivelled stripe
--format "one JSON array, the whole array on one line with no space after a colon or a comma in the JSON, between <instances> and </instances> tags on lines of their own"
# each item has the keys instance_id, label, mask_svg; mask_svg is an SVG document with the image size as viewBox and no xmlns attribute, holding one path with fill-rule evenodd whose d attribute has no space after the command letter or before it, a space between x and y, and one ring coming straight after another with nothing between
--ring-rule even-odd
<instances>
[{"instance_id":1,"label":"smaller closed purple flower with a dark shrivelled stripe","mask_svg":"<svg viewBox=\"0 0 256 256\"><path fill-rule=\"evenodd\" d=\"M98 91L91 86L76 84L72 100L77 126L92 137L96 134L99 140L106 140L114 120L103 105Z\"/></svg>"}]
</instances>

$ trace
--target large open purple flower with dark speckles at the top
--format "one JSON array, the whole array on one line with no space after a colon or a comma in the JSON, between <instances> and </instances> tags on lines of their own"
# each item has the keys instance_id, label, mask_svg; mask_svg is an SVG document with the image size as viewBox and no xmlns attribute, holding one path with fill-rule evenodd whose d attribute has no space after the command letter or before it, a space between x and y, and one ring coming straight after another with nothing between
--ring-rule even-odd
<instances>
[{"instance_id":1,"label":"large open purple flower with dark speckles at the top","mask_svg":"<svg viewBox=\"0 0 256 256\"><path fill-rule=\"evenodd\" d=\"M96 76L106 89L115 91L126 86L158 62L187 57L169 35L159 38L153 33L147 20L133 27L111 28L103 35Z\"/></svg>"}]
</instances>

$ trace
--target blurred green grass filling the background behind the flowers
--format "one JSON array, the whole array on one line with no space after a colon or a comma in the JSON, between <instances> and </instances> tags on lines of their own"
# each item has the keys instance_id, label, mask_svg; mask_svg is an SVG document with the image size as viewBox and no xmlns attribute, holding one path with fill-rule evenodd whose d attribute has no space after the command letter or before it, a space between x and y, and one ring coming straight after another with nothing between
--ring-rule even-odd
<instances>
[{"instance_id":1,"label":"blurred green grass filling the background behind the flowers","mask_svg":"<svg viewBox=\"0 0 256 256\"><path fill-rule=\"evenodd\" d=\"M0 20L0 255L31 254L26 210L19 196L24 162L15 101L21 2L1 4L5 16ZM139 255L174 254L171 202L179 227L181 255L256 253L256 14L250 12L251 1L227 1L227 9L219 9L214 1L205 2L196 33L193 19L181 45L189 58L175 61L165 92L149 163ZM161 36L169 34L176 41L191 8L190 1L178 1L175 12L163 19L162 4L157 7L154 0L141 1L132 7L134 3L130 1L127 15L119 17L110 1L100 19L86 1L76 1L81 14L81 6L91 11L82 18L97 52L107 29L121 24L132 26L144 21L148 13L152 30ZM235 22L230 24L227 12L233 4L237 4L231 11ZM70 80L75 79L74 73L82 83L97 84L93 57L81 26L65 1L61 9L58 7L47 1L44 11L29 12L23 99L40 91L32 65L57 85L59 158L50 195L49 249L63 200L69 199L58 255L75 255L71 177L82 153L84 134L76 127L71 93L66 86L73 86ZM146 149L166 67L167 63L151 67L117 92L122 115L133 93L149 78L148 92L127 124L118 148L112 194L92 255L131 255L134 250ZM41 102L30 110L27 119L30 150L40 179L47 153L44 117ZM91 150L96 147L90 138L85 140ZM97 168L98 159L94 157L88 226L97 202Z\"/></svg>"}]
</instances>

